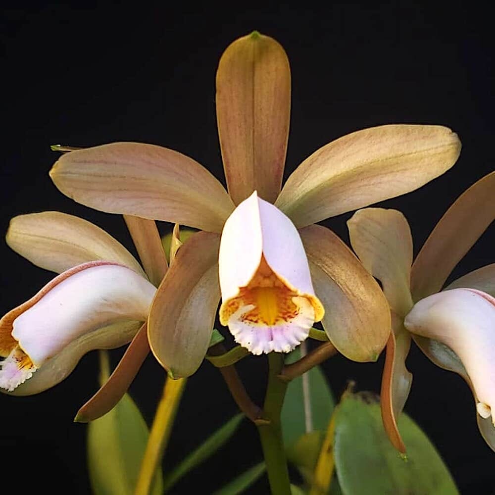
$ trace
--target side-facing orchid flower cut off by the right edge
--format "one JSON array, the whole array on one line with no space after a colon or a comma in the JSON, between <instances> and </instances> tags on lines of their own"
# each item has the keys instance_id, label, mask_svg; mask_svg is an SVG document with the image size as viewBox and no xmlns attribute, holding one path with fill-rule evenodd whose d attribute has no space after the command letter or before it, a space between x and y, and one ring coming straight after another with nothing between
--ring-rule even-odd
<instances>
[{"instance_id":1,"label":"side-facing orchid flower cut off by the right edge","mask_svg":"<svg viewBox=\"0 0 495 495\"><path fill-rule=\"evenodd\" d=\"M495 172L450 206L412 263L412 237L399 211L366 208L347 222L350 242L366 269L382 282L392 328L382 380L384 425L397 449L405 446L396 417L409 395L405 367L411 336L438 366L471 387L480 431L495 450L495 264L448 276L495 218ZM412 264L412 266L411 266Z\"/></svg>"}]
</instances>

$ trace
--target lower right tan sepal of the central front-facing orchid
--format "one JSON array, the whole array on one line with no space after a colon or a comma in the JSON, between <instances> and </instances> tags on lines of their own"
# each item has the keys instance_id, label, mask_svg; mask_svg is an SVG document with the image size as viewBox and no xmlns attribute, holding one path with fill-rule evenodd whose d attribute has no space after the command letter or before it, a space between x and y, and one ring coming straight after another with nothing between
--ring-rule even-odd
<instances>
[{"instance_id":1,"label":"lower right tan sepal of the central front-facing orchid","mask_svg":"<svg viewBox=\"0 0 495 495\"><path fill-rule=\"evenodd\" d=\"M380 286L331 230L312 225L299 234L330 341L349 359L376 361L391 331L390 308Z\"/></svg>"}]
</instances>

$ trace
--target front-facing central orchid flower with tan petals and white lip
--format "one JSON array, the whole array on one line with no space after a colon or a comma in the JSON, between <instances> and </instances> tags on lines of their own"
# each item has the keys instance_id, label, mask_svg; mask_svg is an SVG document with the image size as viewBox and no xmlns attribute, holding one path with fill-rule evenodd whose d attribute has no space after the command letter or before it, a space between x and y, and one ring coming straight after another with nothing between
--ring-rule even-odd
<instances>
[{"instance_id":1,"label":"front-facing central orchid flower with tan petals and white lip","mask_svg":"<svg viewBox=\"0 0 495 495\"><path fill-rule=\"evenodd\" d=\"M50 171L86 206L201 230L178 252L148 317L151 350L172 377L198 369L221 296L222 322L254 353L294 348L320 318L355 361L376 360L386 344L390 312L378 284L313 224L421 187L455 163L459 140L430 125L357 131L317 149L281 189L290 102L284 49L254 32L226 49L216 76L228 192L193 158L140 143L72 151Z\"/></svg>"}]
</instances>

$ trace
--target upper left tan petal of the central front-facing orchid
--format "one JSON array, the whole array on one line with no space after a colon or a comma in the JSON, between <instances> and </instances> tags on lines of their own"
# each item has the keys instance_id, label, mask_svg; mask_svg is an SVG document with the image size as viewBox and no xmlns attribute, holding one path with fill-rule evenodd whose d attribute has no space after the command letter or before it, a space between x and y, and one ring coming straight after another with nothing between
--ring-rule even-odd
<instances>
[{"instance_id":1,"label":"upper left tan petal of the central front-facing orchid","mask_svg":"<svg viewBox=\"0 0 495 495\"><path fill-rule=\"evenodd\" d=\"M234 209L220 182L197 161L160 146L112 143L71 151L50 177L86 206L213 232Z\"/></svg>"}]
</instances>

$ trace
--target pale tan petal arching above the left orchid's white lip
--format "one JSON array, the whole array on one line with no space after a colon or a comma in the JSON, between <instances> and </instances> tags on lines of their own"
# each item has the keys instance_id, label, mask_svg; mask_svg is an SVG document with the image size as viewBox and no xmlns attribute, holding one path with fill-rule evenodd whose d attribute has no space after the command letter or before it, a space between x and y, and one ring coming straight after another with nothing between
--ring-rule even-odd
<instances>
[{"instance_id":1,"label":"pale tan petal arching above the left orchid's white lip","mask_svg":"<svg viewBox=\"0 0 495 495\"><path fill-rule=\"evenodd\" d=\"M44 211L10 220L7 244L37 266L62 273L89 261L107 260L145 276L134 256L112 236L82 218Z\"/></svg>"}]
</instances>

